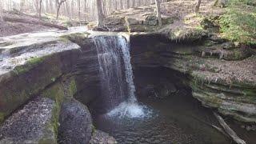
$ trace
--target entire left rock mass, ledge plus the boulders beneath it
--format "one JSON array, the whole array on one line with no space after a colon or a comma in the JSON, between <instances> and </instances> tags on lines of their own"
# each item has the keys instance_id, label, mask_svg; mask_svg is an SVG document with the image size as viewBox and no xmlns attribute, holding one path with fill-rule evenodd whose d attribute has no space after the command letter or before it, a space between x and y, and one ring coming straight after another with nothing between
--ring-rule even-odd
<instances>
[{"instance_id":1,"label":"entire left rock mass, ledge plus the boulders beneath it","mask_svg":"<svg viewBox=\"0 0 256 144\"><path fill-rule=\"evenodd\" d=\"M70 30L1 39L0 122L4 123L0 143L57 143L58 133L68 138L63 142L90 141L90 112L74 99L67 101L98 82L98 67L94 66L97 51L88 35ZM38 98L34 99L35 96ZM26 102L29 103L21 108ZM74 121L70 114L74 114ZM70 128L80 131L69 135ZM14 132L15 129L18 131Z\"/></svg>"}]
</instances>

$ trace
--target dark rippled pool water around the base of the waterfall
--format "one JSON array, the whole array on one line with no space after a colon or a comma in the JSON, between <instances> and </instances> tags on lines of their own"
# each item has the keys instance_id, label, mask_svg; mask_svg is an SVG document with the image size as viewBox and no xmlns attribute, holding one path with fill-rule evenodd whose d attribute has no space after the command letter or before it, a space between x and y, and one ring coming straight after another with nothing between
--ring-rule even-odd
<instances>
[{"instance_id":1,"label":"dark rippled pool water around the base of the waterfall","mask_svg":"<svg viewBox=\"0 0 256 144\"><path fill-rule=\"evenodd\" d=\"M211 123L214 117L210 111L191 104L192 98L184 97L140 98L148 106L146 110L150 110L147 117L119 118L103 114L94 118L96 127L120 143L230 143L217 130L198 120Z\"/></svg>"}]
</instances>

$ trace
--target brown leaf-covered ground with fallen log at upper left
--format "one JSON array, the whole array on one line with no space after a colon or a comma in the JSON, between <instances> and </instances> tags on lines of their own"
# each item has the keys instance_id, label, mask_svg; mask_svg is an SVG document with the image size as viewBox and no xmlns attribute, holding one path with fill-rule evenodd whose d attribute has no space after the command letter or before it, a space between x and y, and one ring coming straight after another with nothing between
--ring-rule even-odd
<instances>
[{"instance_id":1,"label":"brown leaf-covered ground with fallen log at upper left","mask_svg":"<svg viewBox=\"0 0 256 144\"><path fill-rule=\"evenodd\" d=\"M85 23L74 20L70 22L70 19L66 17L57 20L53 14L43 14L40 19L34 14L24 14L18 10L5 11L2 16L4 19L8 18L8 21L0 22L0 37L42 30L58 30L58 26L67 28ZM47 24L54 26L47 26Z\"/></svg>"}]
</instances>

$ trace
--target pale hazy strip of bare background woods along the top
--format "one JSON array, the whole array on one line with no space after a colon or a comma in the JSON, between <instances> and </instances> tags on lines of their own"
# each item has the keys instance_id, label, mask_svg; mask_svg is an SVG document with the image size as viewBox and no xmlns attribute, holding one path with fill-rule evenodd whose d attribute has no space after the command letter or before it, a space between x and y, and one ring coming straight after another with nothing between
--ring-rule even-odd
<instances>
[{"instance_id":1,"label":"pale hazy strip of bare background woods along the top","mask_svg":"<svg viewBox=\"0 0 256 144\"><path fill-rule=\"evenodd\" d=\"M155 0L101 0L102 13L106 17L115 10L154 4ZM158 0L167 2L167 0ZM86 22L98 20L97 0L0 0L4 10L20 10L25 14L54 14L66 16L70 21L81 19ZM41 5L41 6L39 6ZM40 8L41 7L41 8Z\"/></svg>"}]
</instances>

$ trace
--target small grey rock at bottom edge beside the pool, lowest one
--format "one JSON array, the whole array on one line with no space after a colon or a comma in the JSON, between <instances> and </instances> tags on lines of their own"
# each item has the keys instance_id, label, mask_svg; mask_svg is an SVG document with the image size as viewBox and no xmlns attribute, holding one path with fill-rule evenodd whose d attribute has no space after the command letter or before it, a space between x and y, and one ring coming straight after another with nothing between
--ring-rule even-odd
<instances>
[{"instance_id":1,"label":"small grey rock at bottom edge beside the pool, lowest one","mask_svg":"<svg viewBox=\"0 0 256 144\"><path fill-rule=\"evenodd\" d=\"M107 134L101 130L95 130L94 134L91 137L90 144L114 144L118 143L110 134Z\"/></svg>"}]
</instances>

